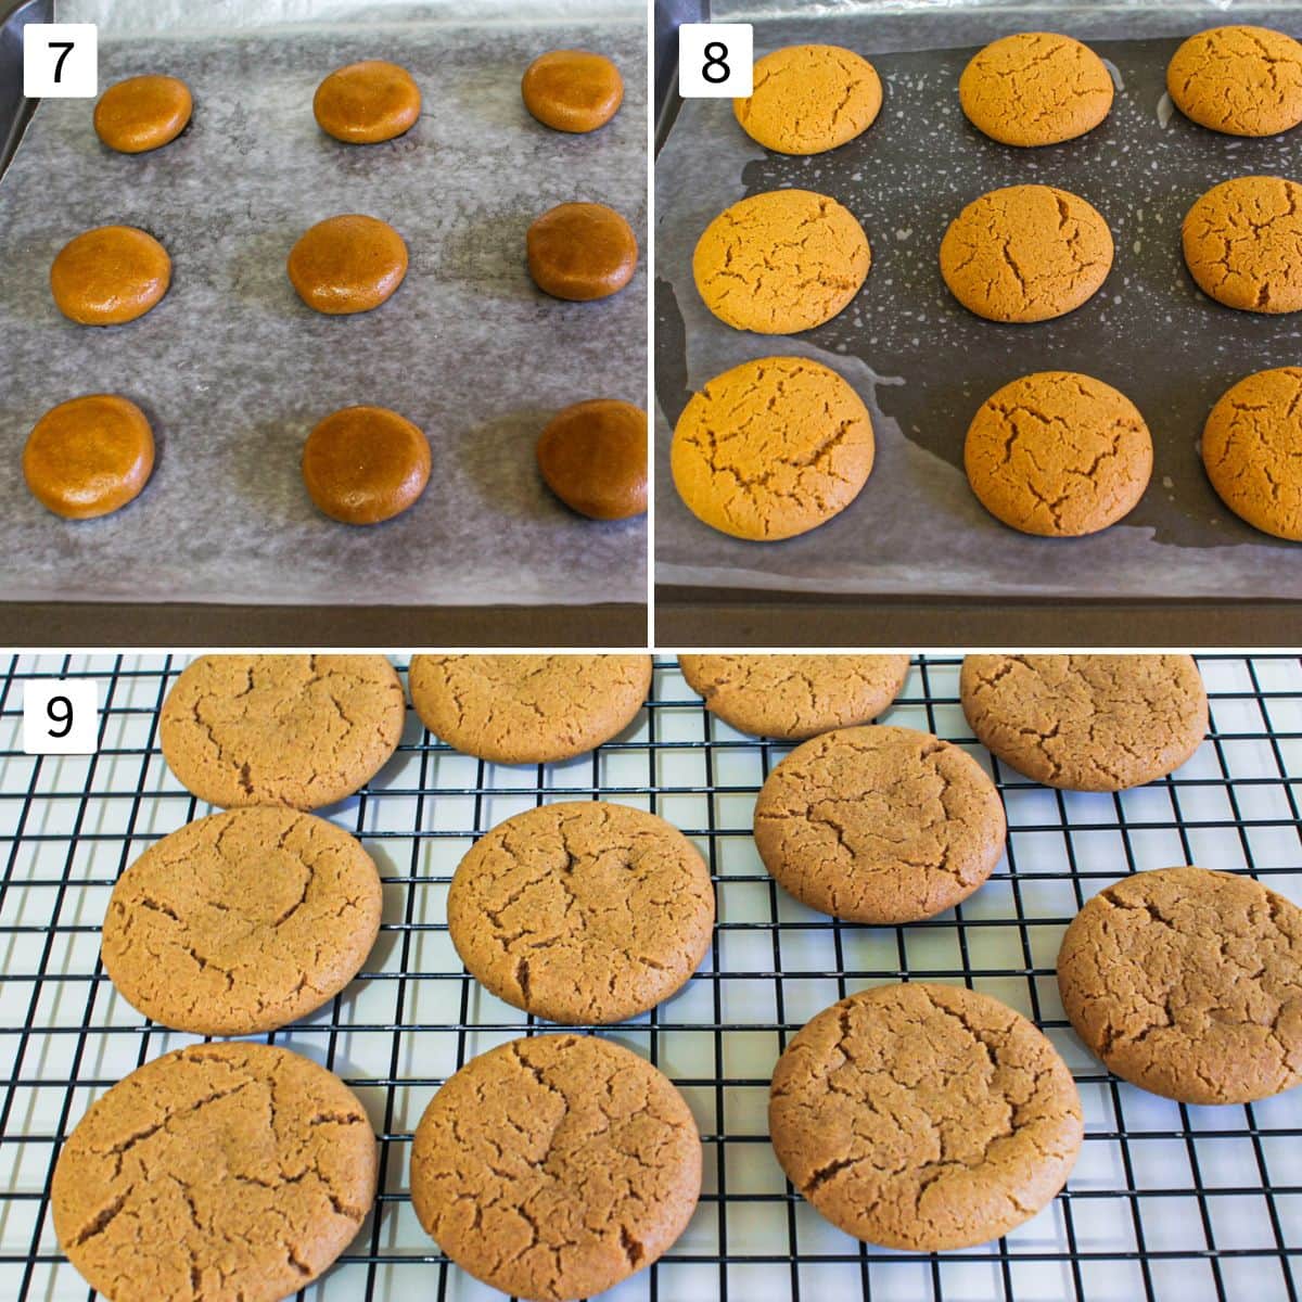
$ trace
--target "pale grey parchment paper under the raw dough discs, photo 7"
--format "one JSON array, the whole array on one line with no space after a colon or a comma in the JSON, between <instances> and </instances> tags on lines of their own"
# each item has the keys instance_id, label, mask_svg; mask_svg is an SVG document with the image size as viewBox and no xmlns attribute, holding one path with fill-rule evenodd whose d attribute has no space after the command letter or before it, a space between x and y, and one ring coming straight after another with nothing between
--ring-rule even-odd
<instances>
[{"instance_id":1,"label":"pale grey parchment paper under the raw dough discs, photo 7","mask_svg":"<svg viewBox=\"0 0 1302 1302\"><path fill-rule=\"evenodd\" d=\"M318 8L331 21L305 23ZM46 100L0 180L0 599L643 600L644 521L572 514L542 484L534 440L581 398L644 405L646 271L603 302L551 299L525 268L525 229L556 203L599 201L644 243L644 9L506 13L495 3L471 26L470 3L60 5L61 21L107 22L102 87L174 73L195 116L129 158L100 146L92 102ZM141 34L146 14L158 35ZM556 46L604 51L624 73L624 107L592 135L551 132L521 104L523 69ZM312 94L366 57L409 68L423 112L398 141L345 146L318 129ZM374 312L320 316L285 275L298 236L339 212L408 242L406 281ZM161 240L172 289L128 326L78 327L51 301L49 263L107 223ZM48 408L100 391L148 413L158 469L125 510L61 521L27 493L21 448ZM421 501L366 529L320 516L298 471L311 427L350 404L402 413L434 449Z\"/></svg>"}]
</instances>

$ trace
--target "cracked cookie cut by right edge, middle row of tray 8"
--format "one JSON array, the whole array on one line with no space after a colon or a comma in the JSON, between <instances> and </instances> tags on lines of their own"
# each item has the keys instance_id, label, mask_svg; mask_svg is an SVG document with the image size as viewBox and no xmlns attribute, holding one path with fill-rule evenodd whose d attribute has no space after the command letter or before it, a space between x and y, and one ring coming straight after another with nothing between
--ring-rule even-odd
<instances>
[{"instance_id":1,"label":"cracked cookie cut by right edge, middle row of tray 8","mask_svg":"<svg viewBox=\"0 0 1302 1302\"><path fill-rule=\"evenodd\" d=\"M1181 228L1198 288L1245 312L1302 309L1302 185L1240 176L1213 185Z\"/></svg>"}]
</instances>

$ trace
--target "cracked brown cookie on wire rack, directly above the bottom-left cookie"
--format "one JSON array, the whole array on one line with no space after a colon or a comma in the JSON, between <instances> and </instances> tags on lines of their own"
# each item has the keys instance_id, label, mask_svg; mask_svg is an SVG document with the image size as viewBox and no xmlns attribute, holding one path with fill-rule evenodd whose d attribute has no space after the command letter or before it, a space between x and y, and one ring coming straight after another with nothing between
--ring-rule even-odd
<instances>
[{"instance_id":1,"label":"cracked brown cookie on wire rack, directly above the bottom-left cookie","mask_svg":"<svg viewBox=\"0 0 1302 1302\"><path fill-rule=\"evenodd\" d=\"M358 973L380 930L380 878L333 823L255 807L187 823L118 879L104 969L146 1017L254 1035L305 1017Z\"/></svg>"}]
</instances>

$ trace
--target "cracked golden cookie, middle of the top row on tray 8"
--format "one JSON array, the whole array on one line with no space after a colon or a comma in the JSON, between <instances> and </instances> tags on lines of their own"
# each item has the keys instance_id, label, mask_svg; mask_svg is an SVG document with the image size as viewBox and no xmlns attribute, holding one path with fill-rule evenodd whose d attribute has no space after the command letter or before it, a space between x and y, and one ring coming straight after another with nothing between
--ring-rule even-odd
<instances>
[{"instance_id":1,"label":"cracked golden cookie, middle of the top row on tray 8","mask_svg":"<svg viewBox=\"0 0 1302 1302\"><path fill-rule=\"evenodd\" d=\"M958 103L967 121L1000 145L1060 145L1108 116L1112 77L1079 40L1019 31L973 55L958 78Z\"/></svg>"}]
</instances>

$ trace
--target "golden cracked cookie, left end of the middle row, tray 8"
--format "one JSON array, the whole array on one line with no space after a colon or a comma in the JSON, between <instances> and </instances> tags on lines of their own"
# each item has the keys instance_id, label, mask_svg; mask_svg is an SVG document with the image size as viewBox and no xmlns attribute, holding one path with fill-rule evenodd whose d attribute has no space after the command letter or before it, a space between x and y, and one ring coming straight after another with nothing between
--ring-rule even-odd
<instances>
[{"instance_id":1,"label":"golden cracked cookie, left end of the middle row, tray 8","mask_svg":"<svg viewBox=\"0 0 1302 1302\"><path fill-rule=\"evenodd\" d=\"M871 262L868 237L849 208L811 190L769 190L706 227L691 275L725 326L794 335L836 316Z\"/></svg>"}]
</instances>

